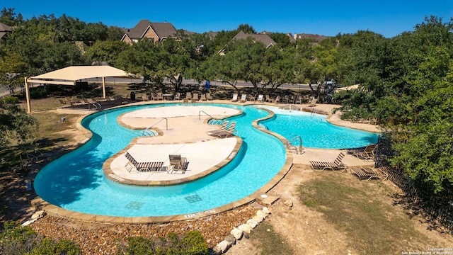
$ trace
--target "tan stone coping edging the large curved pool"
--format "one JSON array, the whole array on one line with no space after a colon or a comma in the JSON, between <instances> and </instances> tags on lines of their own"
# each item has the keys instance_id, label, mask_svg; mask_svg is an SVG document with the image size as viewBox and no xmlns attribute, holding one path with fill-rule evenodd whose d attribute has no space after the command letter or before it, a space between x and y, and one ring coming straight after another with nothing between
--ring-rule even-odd
<instances>
[{"instance_id":1,"label":"tan stone coping edging the large curved pool","mask_svg":"<svg viewBox=\"0 0 453 255\"><path fill-rule=\"evenodd\" d=\"M229 103L224 103L224 104L229 104ZM129 106L119 106L117 108L120 108L120 107L129 107ZM259 107L257 106L257 108L259 108ZM251 203L251 202L257 200L258 198L260 198L261 195L263 195L263 194L267 193L268 191L270 191L274 186L276 186L277 183L279 183L286 176L286 174L289 172L289 170L292 167L292 162L293 162L292 153L289 152L289 149L287 149L285 147L285 143L287 142L285 137L282 137L281 135L278 135L275 132L271 132L269 130L265 130L264 128L261 128L258 125L258 122L261 121L261 120L267 120L268 118L273 118L275 113L273 111L269 111L268 109L265 109L265 108L259 108L259 109L261 109L263 111L267 111L270 114L268 116L266 116L265 118L260 118L258 120L253 120L253 122L252 122L253 127L258 129L258 130L260 130L260 131L263 131L265 133L268 133L270 135L273 135L273 136L277 137L277 139L279 139L283 143L283 146L284 146L285 152L286 152L286 161L285 161L285 164L282 166L282 169L280 169L280 171L278 171L278 173L273 177L273 179L268 181L268 183L265 183L265 185L262 186L261 188L259 188L258 191L255 191L254 193L251 193L250 195L246 196L245 198L241 198L241 199L236 200L236 201L234 201L232 203L228 203L226 205L222 205L222 206L219 206L217 208L212 208L210 210L204 210L204 211L201 211L201 212L194 212L194 213L185 214L185 215L144 216L144 217L122 217L122 216L108 216L108 215L93 215L93 214L88 214L88 213L84 213L84 212L75 212L75 211L67 210L67 209L61 208L61 207L59 207L57 205L53 205L51 203L48 203L47 201L43 200L40 197L31 200L30 203L37 210L45 210L45 212L47 212L50 215L55 215L55 216L59 216L59 217L66 217L66 218L73 219L73 220L81 220L81 221L84 221L84 222L103 222L103 223L112 223L112 224L122 224L122 223L132 223L132 224L137 224L137 223L164 223L164 222L172 222L172 221L180 221L180 220L195 220L195 219L201 218L201 217L207 217L207 216L210 216L210 215L217 215L217 214L219 214L221 212L226 212L228 210L233 210L234 208L237 208L237 207L239 207L241 205L246 205L248 203ZM239 113L237 115L241 115L242 113L243 112L241 111L241 113ZM91 113L91 114L94 114L94 113ZM89 115L91 115L91 114L89 114ZM92 135L93 135L91 133L91 131L89 131L88 129L84 128L81 125L81 120L83 120L87 116L88 115L82 116L81 118L79 118L77 120L77 125L76 125L77 128L80 128L85 134L89 134L89 137L87 137L84 140L84 142L79 143L79 146L84 145L84 143L88 142L88 140L90 140ZM229 117L232 117L232 116L234 116L234 115L231 115ZM225 118L229 118L229 117L225 117ZM208 121L208 120L205 120L205 121ZM241 140L240 137L238 137L238 138ZM236 143L236 147L238 147L238 143ZM240 143L242 145L242 140L241 140ZM132 145L130 145L130 146L132 146ZM236 147L235 147L235 149L236 149ZM239 146L239 148L240 148L240 146ZM118 152L118 153L120 153L120 152ZM115 155L117 155L117 154L115 154ZM113 157L115 157L115 155ZM237 155L237 153L236 153L236 155ZM110 157L109 159L112 159L113 157ZM107 160L109 160L109 159L107 159ZM222 161L221 164L223 164L223 163L224 163L224 161ZM104 162L104 164L105 164L105 162ZM103 164L103 166L104 166L104 164ZM104 169L104 167L103 167L103 169ZM108 175L106 175L106 176L108 176ZM116 180L114 180L114 181L116 181ZM177 183L173 183L173 184L177 184Z\"/></svg>"}]
</instances>

